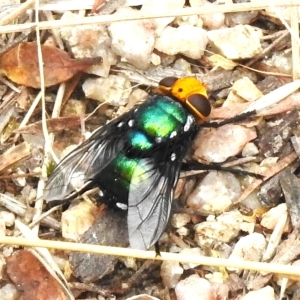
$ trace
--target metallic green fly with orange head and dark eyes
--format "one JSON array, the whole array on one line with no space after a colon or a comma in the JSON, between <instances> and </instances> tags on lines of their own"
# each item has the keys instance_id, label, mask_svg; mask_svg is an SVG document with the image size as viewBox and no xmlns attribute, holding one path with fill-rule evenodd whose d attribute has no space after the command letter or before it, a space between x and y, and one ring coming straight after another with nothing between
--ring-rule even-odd
<instances>
[{"instance_id":1,"label":"metallic green fly with orange head and dark eyes","mask_svg":"<svg viewBox=\"0 0 300 300\"><path fill-rule=\"evenodd\" d=\"M99 187L103 202L127 210L129 243L148 249L168 223L183 158L211 112L207 92L194 77L167 77L163 93L107 125L62 159L44 191L62 202Z\"/></svg>"}]
</instances>

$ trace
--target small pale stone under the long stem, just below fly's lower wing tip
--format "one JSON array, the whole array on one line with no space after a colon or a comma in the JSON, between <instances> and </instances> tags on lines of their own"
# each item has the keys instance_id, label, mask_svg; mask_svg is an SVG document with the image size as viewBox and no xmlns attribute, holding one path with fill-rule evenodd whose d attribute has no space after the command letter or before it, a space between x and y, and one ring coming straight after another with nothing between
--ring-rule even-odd
<instances>
[{"instance_id":1,"label":"small pale stone under the long stem, just below fly's lower wing tip","mask_svg":"<svg viewBox=\"0 0 300 300\"><path fill-rule=\"evenodd\" d=\"M162 262L160 267L160 276L165 287L173 289L178 283L182 274L183 268L178 262L167 260Z\"/></svg>"}]
</instances>

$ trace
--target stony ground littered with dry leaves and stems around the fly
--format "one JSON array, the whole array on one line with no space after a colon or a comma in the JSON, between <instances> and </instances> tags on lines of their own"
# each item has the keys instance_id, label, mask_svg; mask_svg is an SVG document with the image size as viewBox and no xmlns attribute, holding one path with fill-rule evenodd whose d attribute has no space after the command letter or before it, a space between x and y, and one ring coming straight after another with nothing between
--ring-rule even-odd
<instances>
[{"instance_id":1,"label":"stony ground littered with dry leaves and stems around the fly","mask_svg":"<svg viewBox=\"0 0 300 300\"><path fill-rule=\"evenodd\" d=\"M0 4L0 240L75 242L35 252L3 240L1 299L299 298L299 4L237 2ZM182 172L147 260L96 254L92 245L129 246L127 211L106 207L97 188L51 208L47 177L165 77L205 85L213 109L184 160L203 170Z\"/></svg>"}]
</instances>

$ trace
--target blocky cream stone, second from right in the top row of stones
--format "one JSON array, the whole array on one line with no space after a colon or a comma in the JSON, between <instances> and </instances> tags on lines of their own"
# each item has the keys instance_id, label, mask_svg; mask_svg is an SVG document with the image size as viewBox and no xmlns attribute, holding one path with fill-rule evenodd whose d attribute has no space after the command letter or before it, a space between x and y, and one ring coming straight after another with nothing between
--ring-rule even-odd
<instances>
[{"instance_id":1,"label":"blocky cream stone, second from right in the top row of stones","mask_svg":"<svg viewBox=\"0 0 300 300\"><path fill-rule=\"evenodd\" d=\"M193 59L201 58L206 45L206 30L191 25L167 26L155 42L158 51L168 55L181 53Z\"/></svg>"}]
</instances>

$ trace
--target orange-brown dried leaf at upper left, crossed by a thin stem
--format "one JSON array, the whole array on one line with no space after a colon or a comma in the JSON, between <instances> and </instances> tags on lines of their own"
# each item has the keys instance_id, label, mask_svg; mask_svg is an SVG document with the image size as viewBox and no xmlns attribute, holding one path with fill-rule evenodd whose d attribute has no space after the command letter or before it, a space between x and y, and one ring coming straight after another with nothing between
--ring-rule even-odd
<instances>
[{"instance_id":1,"label":"orange-brown dried leaf at upper left, crossed by a thin stem","mask_svg":"<svg viewBox=\"0 0 300 300\"><path fill-rule=\"evenodd\" d=\"M50 45L41 45L45 86L64 82L79 71L102 62L102 58L72 59L69 54ZM0 56L0 70L10 80L40 88L40 72L36 43L20 43Z\"/></svg>"}]
</instances>

